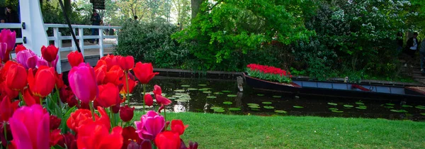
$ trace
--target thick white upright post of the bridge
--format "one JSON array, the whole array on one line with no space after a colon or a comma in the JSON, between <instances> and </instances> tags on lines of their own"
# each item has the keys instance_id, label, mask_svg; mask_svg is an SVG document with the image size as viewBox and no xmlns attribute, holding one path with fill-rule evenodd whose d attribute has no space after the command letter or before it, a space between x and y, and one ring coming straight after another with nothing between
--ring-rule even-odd
<instances>
[{"instance_id":1,"label":"thick white upright post of the bridge","mask_svg":"<svg viewBox=\"0 0 425 149\"><path fill-rule=\"evenodd\" d=\"M25 29L22 28L23 45L41 56L42 45L48 45L49 43L44 21L42 20L40 1L19 0L19 4L21 23L25 23Z\"/></svg>"}]
</instances>

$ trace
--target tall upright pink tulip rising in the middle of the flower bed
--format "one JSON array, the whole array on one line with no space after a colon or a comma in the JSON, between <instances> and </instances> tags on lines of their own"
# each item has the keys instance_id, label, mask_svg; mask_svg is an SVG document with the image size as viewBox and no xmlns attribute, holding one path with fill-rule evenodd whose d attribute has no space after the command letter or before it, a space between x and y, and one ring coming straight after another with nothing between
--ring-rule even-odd
<instances>
[{"instance_id":1,"label":"tall upright pink tulip rising in the middle of the flower bed","mask_svg":"<svg viewBox=\"0 0 425 149\"><path fill-rule=\"evenodd\" d=\"M72 92L84 103L89 103L98 96L98 86L93 67L89 63L81 63L72 67L68 75L69 87Z\"/></svg>"}]
</instances>

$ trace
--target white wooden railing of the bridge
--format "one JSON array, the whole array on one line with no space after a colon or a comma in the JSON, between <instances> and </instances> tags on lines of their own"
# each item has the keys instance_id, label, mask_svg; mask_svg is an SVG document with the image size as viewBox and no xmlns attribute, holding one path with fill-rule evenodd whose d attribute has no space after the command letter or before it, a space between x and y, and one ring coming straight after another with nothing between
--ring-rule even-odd
<instances>
[{"instance_id":1,"label":"white wooden railing of the bridge","mask_svg":"<svg viewBox=\"0 0 425 149\"><path fill-rule=\"evenodd\" d=\"M0 23L0 28L22 28L21 23ZM59 28L68 28L68 25L66 24L50 24L45 23L45 31L47 31L49 28L53 29L53 36L48 36L48 41L54 41L55 46L59 48L60 52L64 51L76 51L77 45L75 45L74 38L72 38L72 35L62 35L60 33ZM98 29L98 35L84 35L84 29ZM118 30L120 29L120 26L87 26L87 25L72 25L72 30L75 33L75 36L77 40L79 40L79 48L81 50L81 53L84 55L84 49L99 49L99 57L103 57L103 49L104 48L111 48L116 45L118 45ZM106 29L113 29L115 30L115 35L103 35L103 31ZM78 33L76 32L78 31ZM110 39L116 39L115 43L112 44L103 44L103 39L110 38ZM93 40L98 39L98 45L84 45L84 40ZM62 40L71 40L72 46L71 47L62 47ZM25 43L25 38L16 38L16 43ZM49 43L45 43L45 45L48 45ZM41 47L40 47L41 48ZM59 57L59 62L57 62L57 72L62 72L62 65L60 60L62 57L60 56L60 53L57 53ZM41 56L41 55L40 55ZM12 57L15 57L15 53L12 54ZM63 57L66 58L66 57Z\"/></svg>"}]
</instances>

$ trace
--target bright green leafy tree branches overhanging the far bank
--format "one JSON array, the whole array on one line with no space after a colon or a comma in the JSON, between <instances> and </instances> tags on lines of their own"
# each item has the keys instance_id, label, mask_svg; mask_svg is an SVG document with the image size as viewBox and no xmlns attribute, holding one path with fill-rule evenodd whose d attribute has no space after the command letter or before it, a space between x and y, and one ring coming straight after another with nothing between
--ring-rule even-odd
<instances>
[{"instance_id":1,"label":"bright green leafy tree branches overhanging the far bank","mask_svg":"<svg viewBox=\"0 0 425 149\"><path fill-rule=\"evenodd\" d=\"M309 1L215 1L204 3L203 13L193 18L189 28L173 37L194 42L191 54L205 67L215 67L232 59L234 52L246 54L261 43L277 40L289 44L306 40L313 33L303 25L310 14ZM220 67L220 65L218 65Z\"/></svg>"}]
</instances>

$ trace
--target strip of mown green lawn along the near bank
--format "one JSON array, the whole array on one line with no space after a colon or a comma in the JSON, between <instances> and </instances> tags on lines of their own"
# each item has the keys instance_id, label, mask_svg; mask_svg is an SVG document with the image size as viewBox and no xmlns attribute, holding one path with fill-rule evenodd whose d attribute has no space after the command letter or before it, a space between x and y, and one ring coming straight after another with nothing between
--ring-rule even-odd
<instances>
[{"instance_id":1,"label":"strip of mown green lawn along the near bank","mask_svg":"<svg viewBox=\"0 0 425 149\"><path fill-rule=\"evenodd\" d=\"M181 137L200 148L425 148L425 122L190 112L166 116L188 124Z\"/></svg>"}]
</instances>

